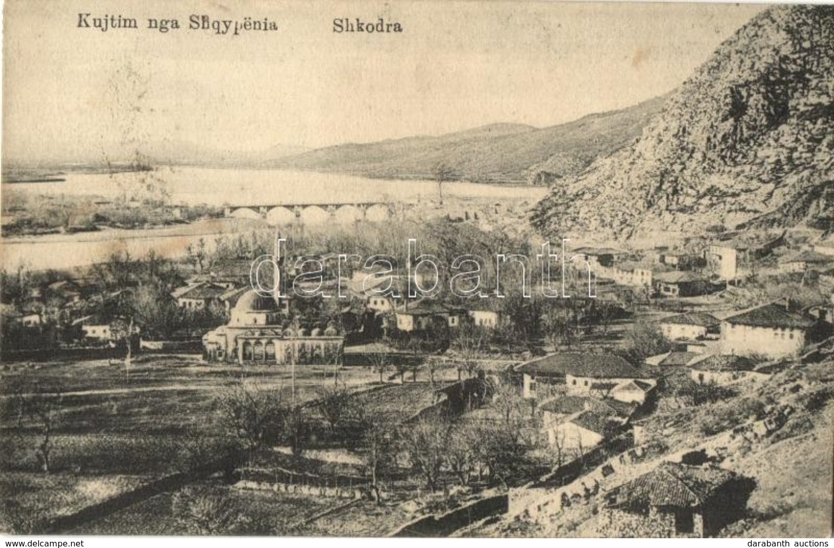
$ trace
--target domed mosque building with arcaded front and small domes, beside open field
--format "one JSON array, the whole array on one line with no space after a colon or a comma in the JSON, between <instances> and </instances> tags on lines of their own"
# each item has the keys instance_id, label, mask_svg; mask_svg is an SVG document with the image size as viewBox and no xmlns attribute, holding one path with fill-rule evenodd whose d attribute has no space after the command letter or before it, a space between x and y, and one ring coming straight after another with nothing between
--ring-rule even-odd
<instances>
[{"instance_id":1,"label":"domed mosque building with arcaded front and small domes, beside open field","mask_svg":"<svg viewBox=\"0 0 834 548\"><path fill-rule=\"evenodd\" d=\"M244 364L337 364L344 336L334 323L305 329L290 322L289 301L250 289L231 310L229 324L203 335L207 361Z\"/></svg>"}]
</instances>

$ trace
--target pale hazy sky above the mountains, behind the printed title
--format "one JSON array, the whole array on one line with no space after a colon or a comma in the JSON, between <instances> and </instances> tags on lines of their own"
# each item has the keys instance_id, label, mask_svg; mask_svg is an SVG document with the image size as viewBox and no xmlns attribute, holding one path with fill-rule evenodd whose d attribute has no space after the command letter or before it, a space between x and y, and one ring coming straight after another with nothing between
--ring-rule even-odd
<instances>
[{"instance_id":1,"label":"pale hazy sky above the mountains, behind the printed title","mask_svg":"<svg viewBox=\"0 0 834 548\"><path fill-rule=\"evenodd\" d=\"M83 161L168 143L318 148L488 123L546 127L676 88L763 9L551 2L7 0L3 158ZM138 29L77 28L137 18ZM223 36L188 18L269 18ZM334 18L403 33L334 33ZM178 30L148 29L177 18Z\"/></svg>"}]
</instances>

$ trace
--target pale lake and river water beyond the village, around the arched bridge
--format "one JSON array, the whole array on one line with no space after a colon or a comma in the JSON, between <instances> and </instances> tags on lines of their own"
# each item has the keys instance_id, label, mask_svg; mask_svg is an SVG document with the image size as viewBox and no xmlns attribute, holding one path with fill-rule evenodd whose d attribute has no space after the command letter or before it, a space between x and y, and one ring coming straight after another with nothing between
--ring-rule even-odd
<instances>
[{"instance_id":1,"label":"pale lake and river water beyond the village, around the arched bridge","mask_svg":"<svg viewBox=\"0 0 834 548\"><path fill-rule=\"evenodd\" d=\"M415 202L437 198L437 183L426 180L392 180L333 173L289 172L259 169L161 168L153 173L67 173L52 183L3 184L33 194L98 195L117 199L123 189L145 184L149 177L168 189L173 204L259 205L339 204L345 202ZM459 199L527 199L531 203L547 193L544 187L506 186L454 182L444 184L445 197ZM48 234L3 238L0 264L17 269L68 269L93 264L117 251L133 257L155 251L178 257L188 245L205 238L209 249L214 238L263 226L247 219L212 219L158 229L105 229L94 233Z\"/></svg>"}]
</instances>

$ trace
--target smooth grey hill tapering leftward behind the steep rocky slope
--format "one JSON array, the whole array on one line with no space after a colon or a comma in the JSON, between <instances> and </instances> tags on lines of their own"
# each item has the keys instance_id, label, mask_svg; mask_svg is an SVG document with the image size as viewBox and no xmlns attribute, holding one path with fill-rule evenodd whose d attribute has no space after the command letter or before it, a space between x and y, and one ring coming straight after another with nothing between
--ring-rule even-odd
<instances>
[{"instance_id":1,"label":"smooth grey hill tapering leftward behind the steep rocky slope","mask_svg":"<svg viewBox=\"0 0 834 548\"><path fill-rule=\"evenodd\" d=\"M349 143L279 158L269 167L382 178L433 178L442 167L455 179L551 184L631 143L662 103L655 98L550 128L495 123L437 137Z\"/></svg>"}]
</instances>

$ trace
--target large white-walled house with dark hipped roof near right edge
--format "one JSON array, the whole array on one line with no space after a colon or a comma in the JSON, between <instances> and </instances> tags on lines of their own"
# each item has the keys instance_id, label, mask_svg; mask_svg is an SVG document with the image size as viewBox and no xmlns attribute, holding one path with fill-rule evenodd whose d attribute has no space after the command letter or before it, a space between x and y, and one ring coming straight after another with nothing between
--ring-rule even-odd
<instances>
[{"instance_id":1,"label":"large white-walled house with dark hipped roof near right edge","mask_svg":"<svg viewBox=\"0 0 834 548\"><path fill-rule=\"evenodd\" d=\"M815 323L786 304L765 304L721 322L721 354L797 356Z\"/></svg>"}]
</instances>

